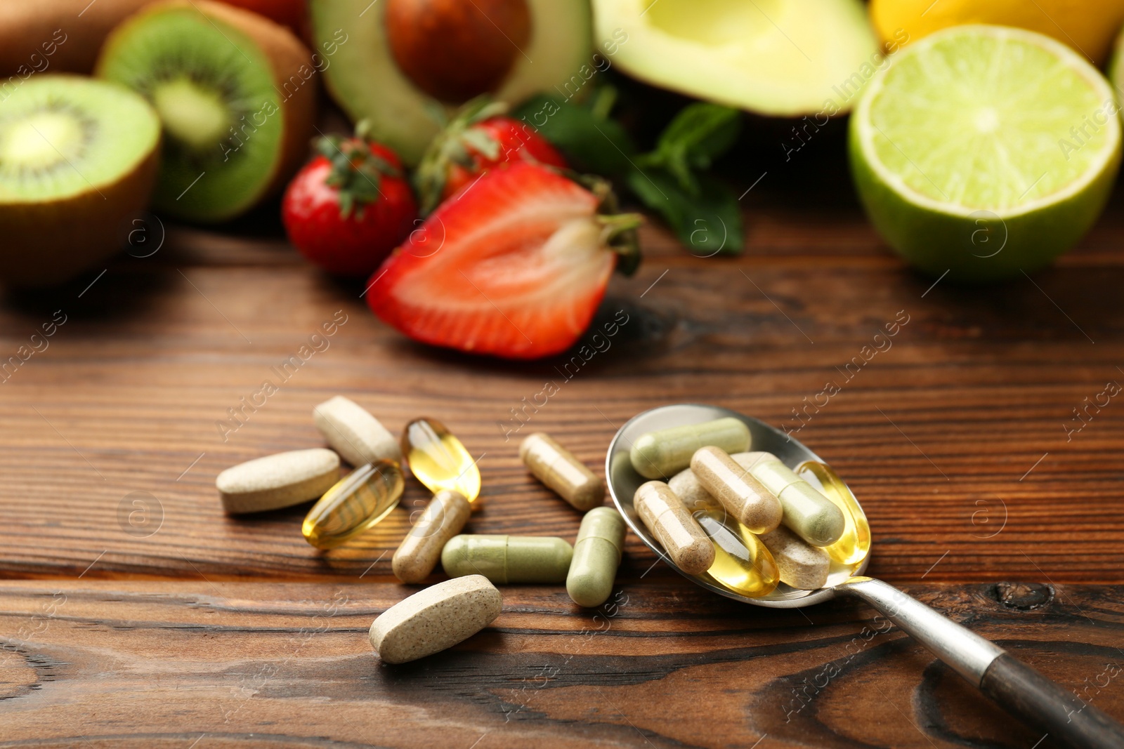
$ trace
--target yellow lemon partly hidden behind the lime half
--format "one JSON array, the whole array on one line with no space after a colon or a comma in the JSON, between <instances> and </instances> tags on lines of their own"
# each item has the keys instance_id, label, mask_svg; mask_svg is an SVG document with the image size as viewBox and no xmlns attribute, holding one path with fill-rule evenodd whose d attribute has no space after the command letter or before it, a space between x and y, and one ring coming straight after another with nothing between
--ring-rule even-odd
<instances>
[{"instance_id":1,"label":"yellow lemon partly hidden behind the lime half","mask_svg":"<svg viewBox=\"0 0 1124 749\"><path fill-rule=\"evenodd\" d=\"M1096 65L1124 22L1124 0L870 0L886 43L916 42L949 26L1017 26L1068 44Z\"/></svg>"}]
</instances>

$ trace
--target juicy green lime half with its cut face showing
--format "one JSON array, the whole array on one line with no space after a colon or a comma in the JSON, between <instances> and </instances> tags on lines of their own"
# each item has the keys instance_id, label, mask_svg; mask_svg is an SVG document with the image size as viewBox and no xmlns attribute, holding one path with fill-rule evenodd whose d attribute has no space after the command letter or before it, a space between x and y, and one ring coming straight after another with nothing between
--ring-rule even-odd
<instances>
[{"instance_id":1,"label":"juicy green lime half with its cut face showing","mask_svg":"<svg viewBox=\"0 0 1124 749\"><path fill-rule=\"evenodd\" d=\"M851 168L882 237L922 270L1040 268L1093 226L1121 161L1108 82L1054 39L959 26L905 47L851 116Z\"/></svg>"}]
</instances>

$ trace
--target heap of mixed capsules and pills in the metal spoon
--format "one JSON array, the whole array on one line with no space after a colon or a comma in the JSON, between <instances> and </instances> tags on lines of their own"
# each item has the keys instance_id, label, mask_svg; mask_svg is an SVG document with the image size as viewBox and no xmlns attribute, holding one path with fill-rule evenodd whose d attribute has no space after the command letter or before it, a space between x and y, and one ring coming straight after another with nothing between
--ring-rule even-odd
<instances>
[{"instance_id":1,"label":"heap of mixed capsules and pills in the metal spoon","mask_svg":"<svg viewBox=\"0 0 1124 749\"><path fill-rule=\"evenodd\" d=\"M759 597L779 583L814 591L836 561L855 567L870 529L854 496L827 466L800 473L771 453L750 453L750 431L725 418L641 436L629 459L649 481L633 505L672 561L690 575Z\"/></svg>"}]
</instances>

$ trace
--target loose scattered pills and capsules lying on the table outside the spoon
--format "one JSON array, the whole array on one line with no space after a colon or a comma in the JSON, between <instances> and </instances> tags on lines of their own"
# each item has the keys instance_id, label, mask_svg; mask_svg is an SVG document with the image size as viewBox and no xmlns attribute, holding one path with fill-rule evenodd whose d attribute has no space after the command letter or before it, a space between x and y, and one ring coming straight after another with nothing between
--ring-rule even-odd
<instances>
[{"instance_id":1,"label":"loose scattered pills and capsules lying on the table outside the spoon","mask_svg":"<svg viewBox=\"0 0 1124 749\"><path fill-rule=\"evenodd\" d=\"M317 499L301 532L330 549L370 530L398 506L404 465L433 493L391 559L404 583L422 583L438 561L451 578L399 602L371 625L386 663L405 663L452 647L500 611L495 584L565 584L581 606L609 597L624 549L625 522L604 506L605 483L542 432L519 447L531 473L584 513L573 546L563 538L462 533L478 505L480 471L443 423L415 419L399 440L357 403L337 395L312 410L332 449L292 450L248 460L219 474L227 512L277 510ZM356 466L339 478L339 458ZM709 544L706 537L703 541Z\"/></svg>"}]
</instances>

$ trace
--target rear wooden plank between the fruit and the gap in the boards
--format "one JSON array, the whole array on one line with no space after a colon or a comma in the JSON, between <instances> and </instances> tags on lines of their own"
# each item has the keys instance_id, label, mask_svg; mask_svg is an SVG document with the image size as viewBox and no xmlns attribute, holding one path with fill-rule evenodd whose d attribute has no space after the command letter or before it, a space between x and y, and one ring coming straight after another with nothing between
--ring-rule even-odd
<instances>
[{"instance_id":1,"label":"rear wooden plank between the fruit and the gap in the boards","mask_svg":"<svg viewBox=\"0 0 1124 749\"><path fill-rule=\"evenodd\" d=\"M230 518L215 491L235 463L321 446L311 409L344 394L391 430L432 415L461 437L483 476L475 532L577 532L577 513L519 465L522 436L549 431L601 473L620 423L695 401L799 429L862 502L876 576L1124 582L1124 405L1106 393L1124 382L1120 198L1057 266L987 289L914 274L846 199L745 202L740 258L643 231L642 270L613 281L599 313L627 322L588 362L414 344L371 316L362 284L315 272L252 221L170 227L149 257L8 293L0 362L65 322L0 382L0 577L389 579L427 500L413 478L401 509L327 554L300 536L306 508ZM149 231L135 254L163 229ZM316 339L323 350L278 377L334 318L346 322ZM279 391L220 428L265 380ZM827 383L839 392L825 398ZM654 559L635 539L628 551L640 569Z\"/></svg>"}]
</instances>

